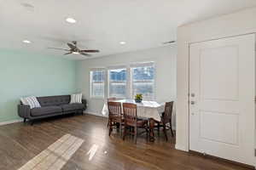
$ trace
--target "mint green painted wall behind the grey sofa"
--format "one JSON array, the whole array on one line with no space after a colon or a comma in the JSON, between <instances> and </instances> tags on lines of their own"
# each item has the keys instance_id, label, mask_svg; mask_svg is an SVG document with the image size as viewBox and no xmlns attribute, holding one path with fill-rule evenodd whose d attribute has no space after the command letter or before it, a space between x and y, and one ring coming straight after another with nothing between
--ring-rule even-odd
<instances>
[{"instance_id":1,"label":"mint green painted wall behind the grey sofa","mask_svg":"<svg viewBox=\"0 0 256 170\"><path fill-rule=\"evenodd\" d=\"M0 122L20 118L22 96L74 93L75 71L73 60L0 49Z\"/></svg>"}]
</instances>

